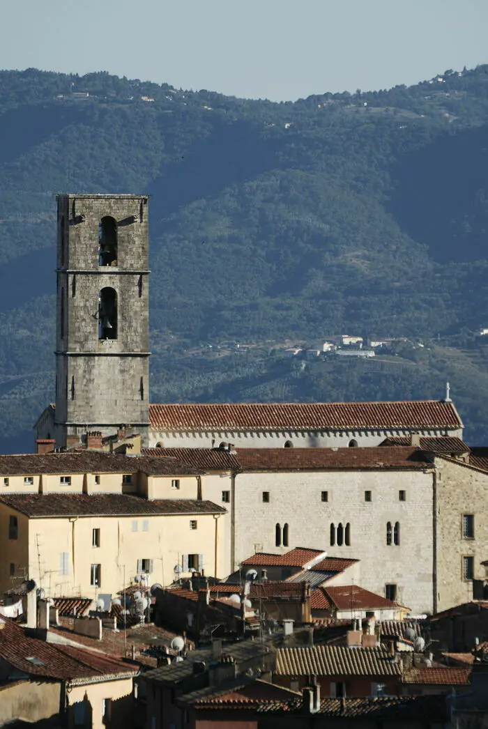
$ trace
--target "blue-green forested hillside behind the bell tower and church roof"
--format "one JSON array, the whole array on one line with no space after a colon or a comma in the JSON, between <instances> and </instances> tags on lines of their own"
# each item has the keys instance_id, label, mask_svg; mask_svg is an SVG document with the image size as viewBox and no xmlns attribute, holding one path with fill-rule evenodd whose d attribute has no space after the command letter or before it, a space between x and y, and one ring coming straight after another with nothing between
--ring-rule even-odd
<instances>
[{"instance_id":1,"label":"blue-green forested hillside behind the bell tower and church roof","mask_svg":"<svg viewBox=\"0 0 488 729\"><path fill-rule=\"evenodd\" d=\"M153 401L441 397L449 379L488 441L487 132L488 66L282 104L0 71L0 449L30 448L53 399L55 192L152 196ZM305 367L276 348L343 332L427 346Z\"/></svg>"}]
</instances>

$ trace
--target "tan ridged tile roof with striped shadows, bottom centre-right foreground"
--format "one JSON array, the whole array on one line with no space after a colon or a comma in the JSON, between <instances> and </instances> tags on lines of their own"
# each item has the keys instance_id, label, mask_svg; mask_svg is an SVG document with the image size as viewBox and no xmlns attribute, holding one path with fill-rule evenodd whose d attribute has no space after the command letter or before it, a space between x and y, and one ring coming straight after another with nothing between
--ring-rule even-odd
<instances>
[{"instance_id":1,"label":"tan ridged tile roof with striped shadows, bottom centre-right foreground","mask_svg":"<svg viewBox=\"0 0 488 729\"><path fill-rule=\"evenodd\" d=\"M392 663L384 648L353 650L344 646L317 645L279 648L276 674L279 676L400 676L401 666Z\"/></svg>"}]
</instances>

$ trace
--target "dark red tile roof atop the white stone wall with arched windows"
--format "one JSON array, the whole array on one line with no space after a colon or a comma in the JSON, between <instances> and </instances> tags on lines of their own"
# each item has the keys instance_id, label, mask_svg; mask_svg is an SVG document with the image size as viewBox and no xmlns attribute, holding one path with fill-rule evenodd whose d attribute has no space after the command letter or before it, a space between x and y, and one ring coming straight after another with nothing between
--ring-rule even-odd
<instances>
[{"instance_id":1,"label":"dark red tile roof atop the white stone wall with arched windows","mask_svg":"<svg viewBox=\"0 0 488 729\"><path fill-rule=\"evenodd\" d=\"M419 448L237 448L242 471L311 469L420 470L430 463Z\"/></svg>"}]
</instances>

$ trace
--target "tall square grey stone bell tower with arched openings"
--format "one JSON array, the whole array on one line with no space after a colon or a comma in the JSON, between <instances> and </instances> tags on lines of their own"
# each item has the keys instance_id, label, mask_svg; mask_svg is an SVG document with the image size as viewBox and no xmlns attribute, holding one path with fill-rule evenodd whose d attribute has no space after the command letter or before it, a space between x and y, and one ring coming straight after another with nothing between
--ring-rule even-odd
<instances>
[{"instance_id":1,"label":"tall square grey stone bell tower with arched openings","mask_svg":"<svg viewBox=\"0 0 488 729\"><path fill-rule=\"evenodd\" d=\"M58 195L55 440L133 426L147 442L147 195Z\"/></svg>"}]
</instances>

